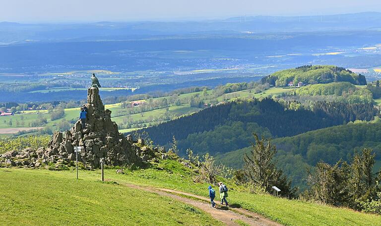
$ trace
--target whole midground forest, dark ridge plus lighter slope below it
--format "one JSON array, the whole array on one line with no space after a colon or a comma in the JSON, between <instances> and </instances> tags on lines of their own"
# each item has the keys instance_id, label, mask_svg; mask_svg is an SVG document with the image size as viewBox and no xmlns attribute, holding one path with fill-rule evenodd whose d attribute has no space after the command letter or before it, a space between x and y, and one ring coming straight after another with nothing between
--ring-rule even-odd
<instances>
[{"instance_id":1,"label":"whole midground forest, dark ridge plus lighter slope below it","mask_svg":"<svg viewBox=\"0 0 381 226\"><path fill-rule=\"evenodd\" d=\"M377 141L381 123L358 123L379 115L373 104L317 101L311 109L302 105L295 110L290 107L292 103L272 98L229 102L138 133L147 132L160 145L170 144L175 136L181 155L185 156L189 148L200 155L208 152L235 168L243 166L243 154L253 133L277 138L273 143L278 166L302 189L306 186L306 169L319 160L334 164L340 158L350 159L355 148L364 147L374 148L380 160L381 145ZM373 122L379 121L376 119Z\"/></svg>"}]
</instances>

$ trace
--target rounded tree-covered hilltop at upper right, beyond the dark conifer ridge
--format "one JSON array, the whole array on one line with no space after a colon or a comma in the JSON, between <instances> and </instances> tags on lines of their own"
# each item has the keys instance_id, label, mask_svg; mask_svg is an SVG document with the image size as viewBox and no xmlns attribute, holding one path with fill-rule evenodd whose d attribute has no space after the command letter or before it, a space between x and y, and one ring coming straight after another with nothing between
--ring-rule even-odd
<instances>
[{"instance_id":1,"label":"rounded tree-covered hilltop at upper right, beyond the dark conifer ridge","mask_svg":"<svg viewBox=\"0 0 381 226\"><path fill-rule=\"evenodd\" d=\"M364 75L357 75L345 68L336 66L312 66L306 65L296 69L288 69L275 72L262 78L262 83L269 83L277 87L287 86L290 81L294 84L303 82L304 84L329 83L337 81L348 81L356 85L366 85Z\"/></svg>"}]
</instances>

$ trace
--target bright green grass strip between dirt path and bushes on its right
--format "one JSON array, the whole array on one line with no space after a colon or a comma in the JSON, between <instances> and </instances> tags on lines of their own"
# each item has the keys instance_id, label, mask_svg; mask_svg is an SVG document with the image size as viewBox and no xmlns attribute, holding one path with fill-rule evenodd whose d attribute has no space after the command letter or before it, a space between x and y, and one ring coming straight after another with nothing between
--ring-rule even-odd
<instances>
[{"instance_id":1,"label":"bright green grass strip between dirt path and bushes on its right","mask_svg":"<svg viewBox=\"0 0 381 226\"><path fill-rule=\"evenodd\" d=\"M177 164L180 163L167 161L160 165L173 173L146 169L120 175L113 170L108 170L107 176L117 181L171 188L207 196L208 184L194 183L191 177L184 176L187 175L187 170ZM226 184L234 189L231 189L229 194L230 204L262 214L287 226L376 226L381 222L381 216L363 214L345 208L276 198L270 195L254 195L242 191L229 182Z\"/></svg>"}]
</instances>

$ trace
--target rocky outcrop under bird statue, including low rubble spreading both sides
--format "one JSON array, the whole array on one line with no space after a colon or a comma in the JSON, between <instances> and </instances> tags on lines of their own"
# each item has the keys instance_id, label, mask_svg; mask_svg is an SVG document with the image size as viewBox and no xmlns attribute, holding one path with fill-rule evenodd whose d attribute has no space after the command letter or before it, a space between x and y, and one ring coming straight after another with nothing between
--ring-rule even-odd
<instances>
[{"instance_id":1,"label":"rocky outcrop under bird statue, including low rubble spreading both sides","mask_svg":"<svg viewBox=\"0 0 381 226\"><path fill-rule=\"evenodd\" d=\"M133 141L130 135L125 137L119 133L118 125L111 121L111 111L105 110L97 87L88 89L86 107L85 128L78 121L68 131L55 132L47 149L8 151L0 156L0 163L35 166L37 163L70 162L76 159L75 147L81 148L78 161L89 168L99 167L102 158L107 165L141 165L164 154L164 149L151 149L143 140Z\"/></svg>"}]
</instances>

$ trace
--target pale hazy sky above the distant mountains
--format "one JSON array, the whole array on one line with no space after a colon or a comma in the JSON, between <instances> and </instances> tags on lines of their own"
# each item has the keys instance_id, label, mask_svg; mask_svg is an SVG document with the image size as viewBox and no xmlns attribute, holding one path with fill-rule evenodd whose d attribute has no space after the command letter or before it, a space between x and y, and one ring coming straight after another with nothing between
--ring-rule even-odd
<instances>
[{"instance_id":1,"label":"pale hazy sky above the distant mountains","mask_svg":"<svg viewBox=\"0 0 381 226\"><path fill-rule=\"evenodd\" d=\"M0 21L73 22L381 11L381 0L0 0Z\"/></svg>"}]
</instances>

